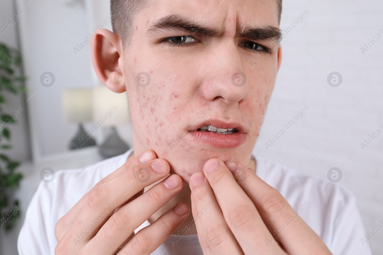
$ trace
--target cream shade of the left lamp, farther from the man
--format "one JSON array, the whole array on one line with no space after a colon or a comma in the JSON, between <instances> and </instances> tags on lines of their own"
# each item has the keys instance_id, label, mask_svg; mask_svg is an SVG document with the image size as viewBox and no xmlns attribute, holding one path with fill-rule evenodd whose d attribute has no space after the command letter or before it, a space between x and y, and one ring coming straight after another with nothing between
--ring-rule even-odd
<instances>
[{"instance_id":1,"label":"cream shade of the left lamp, farther from the man","mask_svg":"<svg viewBox=\"0 0 383 255\"><path fill-rule=\"evenodd\" d=\"M65 89L61 91L61 99L66 122L92 121L91 89Z\"/></svg>"}]
</instances>

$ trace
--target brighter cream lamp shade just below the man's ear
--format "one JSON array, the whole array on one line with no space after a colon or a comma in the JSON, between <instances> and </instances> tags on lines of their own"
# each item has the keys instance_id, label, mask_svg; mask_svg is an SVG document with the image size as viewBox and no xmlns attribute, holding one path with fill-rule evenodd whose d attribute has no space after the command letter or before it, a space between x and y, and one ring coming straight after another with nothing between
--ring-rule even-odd
<instances>
[{"instance_id":1,"label":"brighter cream lamp shade just below the man's ear","mask_svg":"<svg viewBox=\"0 0 383 255\"><path fill-rule=\"evenodd\" d=\"M129 123L126 93L115 93L105 86L93 88L93 122L105 126Z\"/></svg>"}]
</instances>

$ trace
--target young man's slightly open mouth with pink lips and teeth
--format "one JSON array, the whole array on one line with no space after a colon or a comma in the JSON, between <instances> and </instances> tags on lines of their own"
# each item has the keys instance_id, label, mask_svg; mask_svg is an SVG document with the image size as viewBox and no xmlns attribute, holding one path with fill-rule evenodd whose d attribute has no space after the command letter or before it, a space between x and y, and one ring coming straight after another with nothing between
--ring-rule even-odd
<instances>
[{"instance_id":1,"label":"young man's slightly open mouth with pink lips and teeth","mask_svg":"<svg viewBox=\"0 0 383 255\"><path fill-rule=\"evenodd\" d=\"M195 143L207 143L215 148L236 148L242 145L247 133L239 123L209 120L190 126L188 133Z\"/></svg>"}]
</instances>

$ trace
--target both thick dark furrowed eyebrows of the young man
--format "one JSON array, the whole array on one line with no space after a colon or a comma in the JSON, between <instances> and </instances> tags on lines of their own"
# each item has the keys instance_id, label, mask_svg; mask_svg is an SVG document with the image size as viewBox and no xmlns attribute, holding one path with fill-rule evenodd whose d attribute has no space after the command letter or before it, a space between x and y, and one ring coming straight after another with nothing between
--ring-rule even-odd
<instances>
[{"instance_id":1,"label":"both thick dark furrowed eyebrows of the young man","mask_svg":"<svg viewBox=\"0 0 383 255\"><path fill-rule=\"evenodd\" d=\"M159 32L160 30L177 29L180 31L190 32L191 34L207 37L215 37L223 33L223 31L219 31L217 29L201 27L203 25L204 24L199 25L194 21L172 14L155 21L146 32ZM275 44L279 44L282 41L281 30L271 25L262 27L252 27L246 25L240 29L240 32L236 33L236 36L252 41L274 41Z\"/></svg>"}]
</instances>

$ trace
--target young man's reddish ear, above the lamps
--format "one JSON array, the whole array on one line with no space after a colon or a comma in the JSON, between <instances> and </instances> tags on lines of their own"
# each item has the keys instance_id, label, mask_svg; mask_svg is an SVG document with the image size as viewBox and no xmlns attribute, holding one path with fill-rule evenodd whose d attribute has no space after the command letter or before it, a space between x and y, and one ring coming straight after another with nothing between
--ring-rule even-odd
<instances>
[{"instance_id":1,"label":"young man's reddish ear, above the lamps","mask_svg":"<svg viewBox=\"0 0 383 255\"><path fill-rule=\"evenodd\" d=\"M123 75L123 47L120 37L108 29L97 29L90 41L93 68L100 81L111 91L126 91Z\"/></svg>"}]
</instances>

